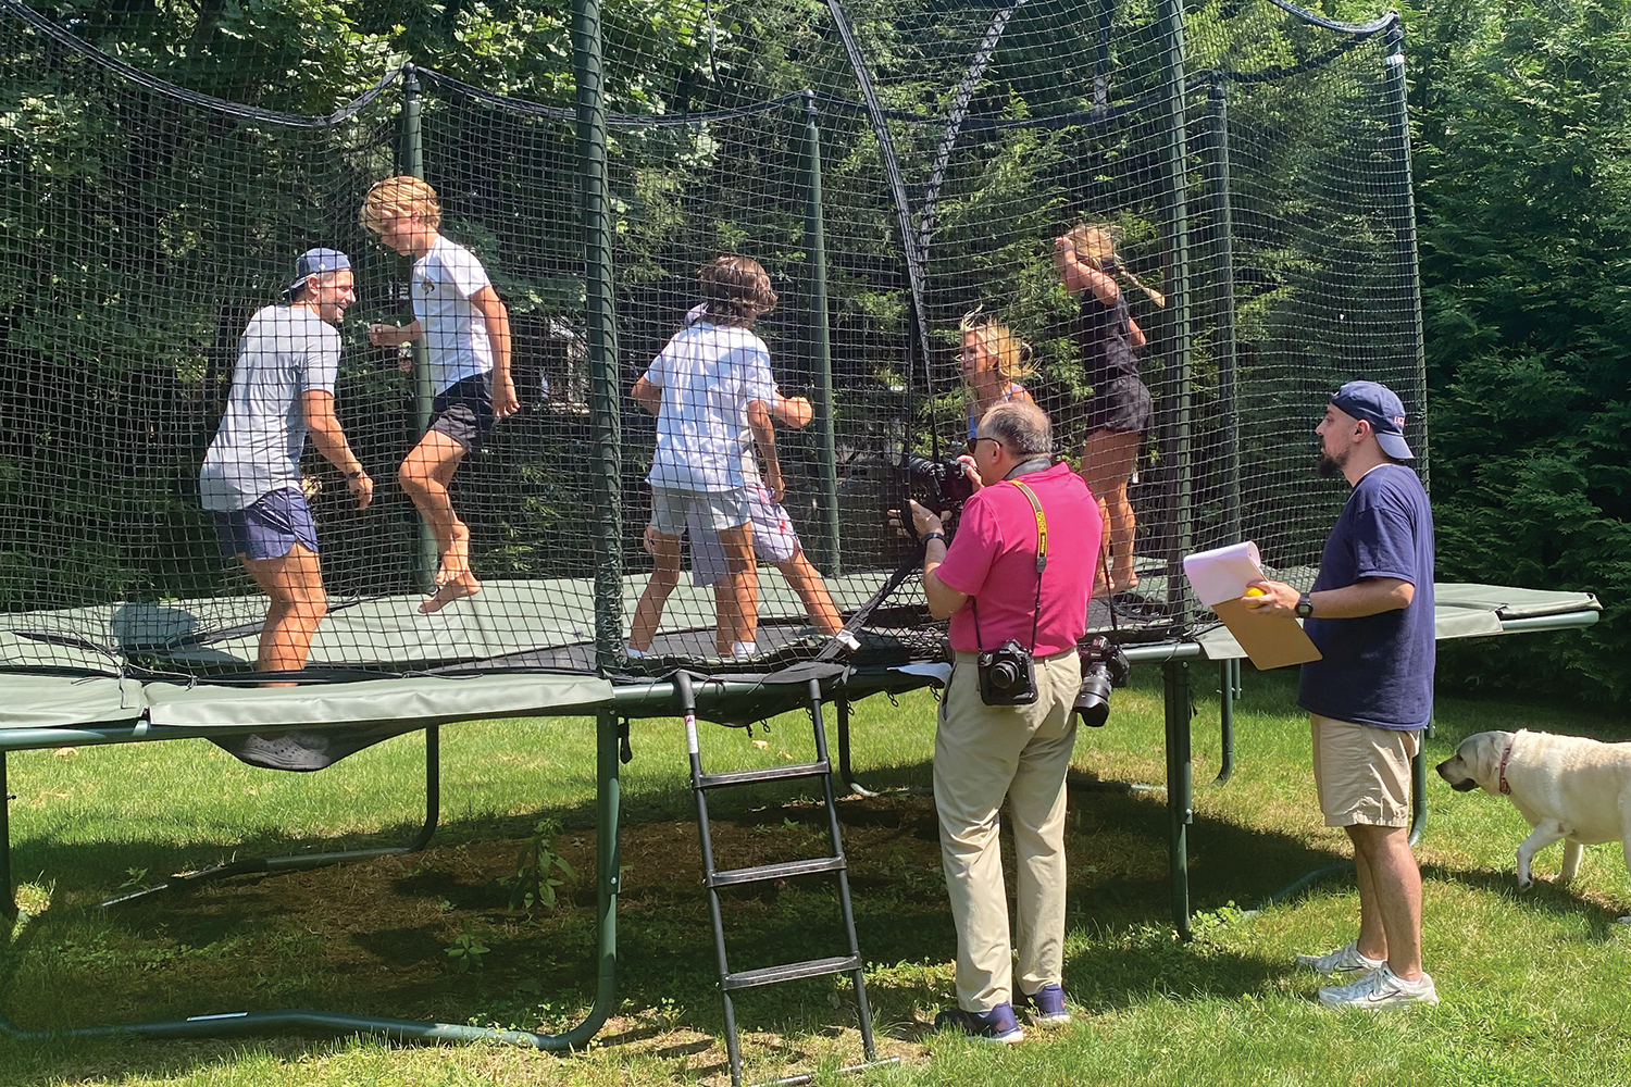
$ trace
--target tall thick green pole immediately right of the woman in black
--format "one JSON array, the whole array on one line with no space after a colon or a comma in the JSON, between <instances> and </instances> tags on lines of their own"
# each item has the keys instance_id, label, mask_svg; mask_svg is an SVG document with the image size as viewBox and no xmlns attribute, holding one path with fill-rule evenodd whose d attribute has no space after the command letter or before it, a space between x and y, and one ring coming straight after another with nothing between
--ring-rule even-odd
<instances>
[{"instance_id":1,"label":"tall thick green pole immediately right of the woman in black","mask_svg":"<svg viewBox=\"0 0 1631 1087\"><path fill-rule=\"evenodd\" d=\"M1182 0L1161 0L1161 47L1166 70L1165 145L1161 148L1161 197L1166 205L1166 257L1168 290L1173 303L1169 334L1166 337L1169 378L1165 393L1171 398L1168 417L1168 510L1169 549L1166 554L1168 606L1173 621L1189 619L1189 603L1184 592L1184 556L1189 554L1194 528L1191 525L1191 489L1194 487L1194 451L1189 445L1191 424L1191 326L1189 326L1189 204L1187 204L1187 124L1184 114L1184 5Z\"/></svg>"}]
</instances>

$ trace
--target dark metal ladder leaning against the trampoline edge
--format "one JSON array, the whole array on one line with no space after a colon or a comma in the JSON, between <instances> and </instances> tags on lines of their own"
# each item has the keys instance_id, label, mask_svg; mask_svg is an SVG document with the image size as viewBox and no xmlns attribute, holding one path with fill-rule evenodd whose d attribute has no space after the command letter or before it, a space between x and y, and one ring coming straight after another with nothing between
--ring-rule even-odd
<instances>
[{"instance_id":1,"label":"dark metal ladder leaning against the trampoline edge","mask_svg":"<svg viewBox=\"0 0 1631 1087\"><path fill-rule=\"evenodd\" d=\"M742 1050L736 1032L736 1006L732 994L765 984L780 984L799 978L822 978L827 975L850 975L855 981L855 999L860 1009L861 1046L866 1061L846 1069L860 1071L877 1064L894 1064L894 1059L879 1061L877 1046L873 1041L873 1015L866 1004L866 978L860 945L855 939L855 909L850 903L850 872L843 856L843 843L838 831L838 807L832 787L832 759L827 755L827 730L822 725L822 693L820 681L809 681L811 724L816 733L816 761L796 763L791 766L775 766L770 769L731 771L724 774L703 772L701 755L696 740L696 696L692 689L690 675L680 671L674 678L680 696L680 709L685 714L685 743L692 759L692 792L696 797L696 825L701 834L703 852L703 887L708 890L708 914L714 931L714 953L719 958L719 996L724 1001L724 1038L731 1054L731 1084L742 1085ZM788 860L783 864L762 864L750 869L716 869L713 857L713 834L708 828L708 794L713 789L731 786L747 786L763 781L789 781L798 777L819 777L822 794L827 800L827 834L832 843L832 854L827 857L811 857L807 860ZM724 947L724 924L719 911L719 888L740 887L745 883L770 883L788 880L796 875L812 875L832 872L838 880L838 903L843 911L843 927L848 939L848 953L832 958L812 958L801 963L783 963L778 966L762 966L758 970L732 971ZM814 1076L791 1076L773 1080L775 1084L804 1084Z\"/></svg>"}]
</instances>

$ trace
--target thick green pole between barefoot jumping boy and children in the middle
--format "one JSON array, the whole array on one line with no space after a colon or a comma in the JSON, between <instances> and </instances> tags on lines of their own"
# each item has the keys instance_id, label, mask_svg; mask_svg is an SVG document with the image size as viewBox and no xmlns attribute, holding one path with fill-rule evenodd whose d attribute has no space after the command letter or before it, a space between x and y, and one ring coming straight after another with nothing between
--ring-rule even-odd
<instances>
[{"instance_id":1,"label":"thick green pole between barefoot jumping boy and children in the middle","mask_svg":"<svg viewBox=\"0 0 1631 1087\"><path fill-rule=\"evenodd\" d=\"M595 445L595 662L610 668L623 655L623 417L617 381L600 0L572 0L572 68L577 78L577 196L584 231L589 414Z\"/></svg>"}]
</instances>

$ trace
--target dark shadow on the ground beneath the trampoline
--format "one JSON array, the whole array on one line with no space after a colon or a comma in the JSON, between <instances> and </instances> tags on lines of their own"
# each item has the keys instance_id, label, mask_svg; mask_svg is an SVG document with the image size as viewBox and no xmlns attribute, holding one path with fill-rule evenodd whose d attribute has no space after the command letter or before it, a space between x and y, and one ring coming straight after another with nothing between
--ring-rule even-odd
<instances>
[{"instance_id":1,"label":"dark shadow on the ground beneath the trampoline","mask_svg":"<svg viewBox=\"0 0 1631 1087\"><path fill-rule=\"evenodd\" d=\"M926 766L891 774L895 781L923 777ZM1070 803L1070 924L1114 935L1094 939L1091 950L1068 965L1067 983L1078 999L1114 1006L1151 988L1243 992L1284 971L1284 963L1197 963L1173 940L1165 794L1080 779L1072 784ZM946 966L956 948L933 799L887 792L846 799L838 812L863 957L908 965L923 976L873 983L876 1022L892 1036L913 1036L922 1010L951 997ZM568 828L559 851L571 856L579 882L563 888L558 913L514 914L499 878L514 872L519 843L540 815ZM631 799L625 816L620 1001L633 1009L674 1009L677 1023L718 1036L723 1012L690 795L672 789ZM57 885L52 908L34 918L5 955L5 1009L26 1025L321 1007L564 1030L594 996L592 826L587 800L530 816L455 820L422 854L199 885L109 911L90 903L113 890L126 869L188 867L199 862L199 851L152 843L70 849L26 841L18 849L18 870L62 867L75 878ZM824 826L822 805L786 795L714 807L721 867L809 856L825 844ZM267 834L235 852L367 847L406 839L413 830L404 821L380 834L343 839ZM1337 859L1292 836L1205 818L1189 828L1189 843L1191 896L1200 911L1230 901L1254 906L1303 872ZM1011 874L1011 847L1005 851ZM1249 864L1243 864L1246 857ZM98 870L106 872L99 885ZM724 911L732 970L843 952L837 893L825 877L731 893ZM452 968L447 948L460 932L475 934L489 948L476 970ZM42 991L54 996L41 1006L29 994ZM837 1030L853 1025L855 1004L846 983L814 979L745 992L739 1017L744 1030ZM608 1035L628 1041L649 1036L638 1019L626 1017ZM173 1054L160 1058L161 1048L153 1048L152 1059L168 1066ZM132 1071L147 1050L127 1050Z\"/></svg>"}]
</instances>

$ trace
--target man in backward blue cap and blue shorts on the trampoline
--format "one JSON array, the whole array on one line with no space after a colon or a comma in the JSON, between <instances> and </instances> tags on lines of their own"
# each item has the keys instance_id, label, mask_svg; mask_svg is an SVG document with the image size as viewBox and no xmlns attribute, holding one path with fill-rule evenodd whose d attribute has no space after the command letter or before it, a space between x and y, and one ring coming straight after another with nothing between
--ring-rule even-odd
<instances>
[{"instance_id":1,"label":"man in backward blue cap and blue shorts on the trampoline","mask_svg":"<svg viewBox=\"0 0 1631 1087\"><path fill-rule=\"evenodd\" d=\"M300 486L307 435L346 477L365 510L373 481L334 417L339 324L357 300L351 261L338 249L307 249L281 306L263 306L238 339L238 363L215 440L204 455L199 491L215 513L222 551L236 554L267 595L256 668L305 668L328 613L316 525Z\"/></svg>"}]
</instances>

